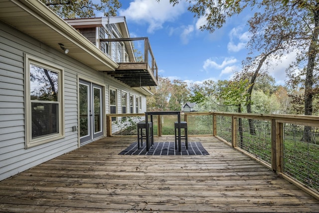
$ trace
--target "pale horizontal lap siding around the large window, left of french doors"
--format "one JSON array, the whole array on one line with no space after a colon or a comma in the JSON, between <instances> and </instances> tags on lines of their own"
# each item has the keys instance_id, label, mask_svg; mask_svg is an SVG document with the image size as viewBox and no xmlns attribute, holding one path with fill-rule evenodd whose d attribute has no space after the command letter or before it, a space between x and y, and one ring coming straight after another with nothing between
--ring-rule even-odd
<instances>
[{"instance_id":1,"label":"pale horizontal lap siding around the large window, left of french doors","mask_svg":"<svg viewBox=\"0 0 319 213\"><path fill-rule=\"evenodd\" d=\"M64 67L65 138L29 149L24 132L24 53ZM78 134L72 131L78 122L78 74L103 79L103 73L0 23L0 180L78 148Z\"/></svg>"}]
</instances>

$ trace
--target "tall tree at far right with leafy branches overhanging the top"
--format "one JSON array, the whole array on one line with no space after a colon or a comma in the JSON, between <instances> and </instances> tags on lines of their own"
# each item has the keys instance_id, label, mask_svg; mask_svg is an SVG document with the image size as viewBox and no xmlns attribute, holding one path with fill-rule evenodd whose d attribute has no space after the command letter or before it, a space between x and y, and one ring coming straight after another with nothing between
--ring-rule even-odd
<instances>
[{"instance_id":1,"label":"tall tree at far right with leafy branches overhanging the top","mask_svg":"<svg viewBox=\"0 0 319 213\"><path fill-rule=\"evenodd\" d=\"M170 0L174 5L181 0ZM285 33L278 35L285 37L286 32L290 35L289 40L295 40L295 48L299 50L298 65L303 70L290 72L291 81L302 83L305 88L304 112L305 115L313 114L313 101L318 95L319 76L315 73L318 64L318 36L319 36L319 1L318 0L185 0L189 3L188 10L197 17L205 17L206 23L201 29L213 32L226 22L228 17L241 13L246 7L261 8L264 14L283 14L285 19ZM283 29L282 24L273 24L273 31ZM280 31L279 31L280 32ZM293 46L291 46L293 48ZM292 66L295 68L298 66ZM296 71L296 69L294 70ZM297 78L297 75L303 77ZM297 84L298 85L298 82ZM311 128L305 127L303 141L312 141Z\"/></svg>"}]
</instances>

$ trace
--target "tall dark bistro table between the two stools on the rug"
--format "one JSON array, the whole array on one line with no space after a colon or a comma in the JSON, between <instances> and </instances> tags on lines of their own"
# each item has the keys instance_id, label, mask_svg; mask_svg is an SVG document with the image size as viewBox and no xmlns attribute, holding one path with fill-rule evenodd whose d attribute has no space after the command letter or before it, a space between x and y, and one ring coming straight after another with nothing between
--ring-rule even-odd
<instances>
[{"instance_id":1,"label":"tall dark bistro table between the two stools on the rug","mask_svg":"<svg viewBox=\"0 0 319 213\"><path fill-rule=\"evenodd\" d=\"M149 122L149 116L153 125L153 115L177 115L178 122L178 151L180 152L181 141L180 141L180 111L166 111L166 112L145 112L145 123ZM153 128L152 128L153 129ZM152 134L152 140L150 141L149 134ZM154 144L153 133L149 132L146 128L146 151L149 151L150 147Z\"/></svg>"}]
</instances>

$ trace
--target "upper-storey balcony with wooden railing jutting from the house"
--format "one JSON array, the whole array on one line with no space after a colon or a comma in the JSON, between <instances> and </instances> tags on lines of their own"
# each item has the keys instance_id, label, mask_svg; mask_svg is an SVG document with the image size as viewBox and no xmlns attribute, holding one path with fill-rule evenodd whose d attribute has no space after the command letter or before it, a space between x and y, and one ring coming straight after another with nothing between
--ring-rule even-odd
<instances>
[{"instance_id":1,"label":"upper-storey balcony with wooden railing jutting from the house","mask_svg":"<svg viewBox=\"0 0 319 213\"><path fill-rule=\"evenodd\" d=\"M158 65L147 37L100 39L100 49L119 64L107 72L112 77L131 87L157 86Z\"/></svg>"}]
</instances>

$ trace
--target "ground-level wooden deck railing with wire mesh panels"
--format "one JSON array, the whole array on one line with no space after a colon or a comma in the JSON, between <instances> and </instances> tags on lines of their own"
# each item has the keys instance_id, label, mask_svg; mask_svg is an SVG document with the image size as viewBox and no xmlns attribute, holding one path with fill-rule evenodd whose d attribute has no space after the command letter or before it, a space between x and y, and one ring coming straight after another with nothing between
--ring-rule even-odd
<instances>
[{"instance_id":1,"label":"ground-level wooden deck railing with wire mesh panels","mask_svg":"<svg viewBox=\"0 0 319 213\"><path fill-rule=\"evenodd\" d=\"M319 199L319 116L223 112L182 114L182 120L187 121L189 136L216 136ZM116 122L112 122L111 116L117 117L113 119ZM174 134L173 121L176 118L165 117L155 116L155 135ZM126 129L121 126L128 126L128 120L144 119L144 113L107 115L108 135ZM136 136L136 126L134 122L131 124L131 131L125 134ZM310 137L305 140L305 135Z\"/></svg>"}]
</instances>

